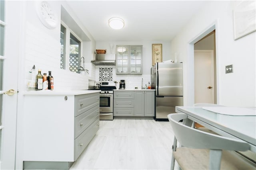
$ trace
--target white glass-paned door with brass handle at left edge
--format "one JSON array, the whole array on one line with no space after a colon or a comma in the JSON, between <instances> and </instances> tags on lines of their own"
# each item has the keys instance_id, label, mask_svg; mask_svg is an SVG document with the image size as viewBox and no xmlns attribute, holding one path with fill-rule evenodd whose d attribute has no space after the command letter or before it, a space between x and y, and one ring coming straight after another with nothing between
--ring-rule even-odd
<instances>
[{"instance_id":1,"label":"white glass-paned door with brass handle at left edge","mask_svg":"<svg viewBox=\"0 0 256 170\"><path fill-rule=\"evenodd\" d=\"M0 169L14 170L19 55L19 27L15 15L18 12L15 2L0 0L0 6Z\"/></svg>"}]
</instances>

